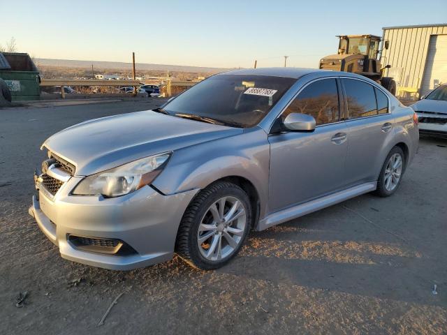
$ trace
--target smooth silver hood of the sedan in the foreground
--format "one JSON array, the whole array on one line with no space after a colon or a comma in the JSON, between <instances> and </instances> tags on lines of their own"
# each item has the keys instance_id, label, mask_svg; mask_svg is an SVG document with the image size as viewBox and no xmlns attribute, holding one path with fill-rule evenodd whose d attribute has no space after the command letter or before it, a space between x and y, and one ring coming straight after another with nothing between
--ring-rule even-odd
<instances>
[{"instance_id":1,"label":"smooth silver hood of the sedan in the foreground","mask_svg":"<svg viewBox=\"0 0 447 335\"><path fill-rule=\"evenodd\" d=\"M42 145L87 176L154 154L242 133L232 128L153 111L103 117L76 124Z\"/></svg>"}]
</instances>

